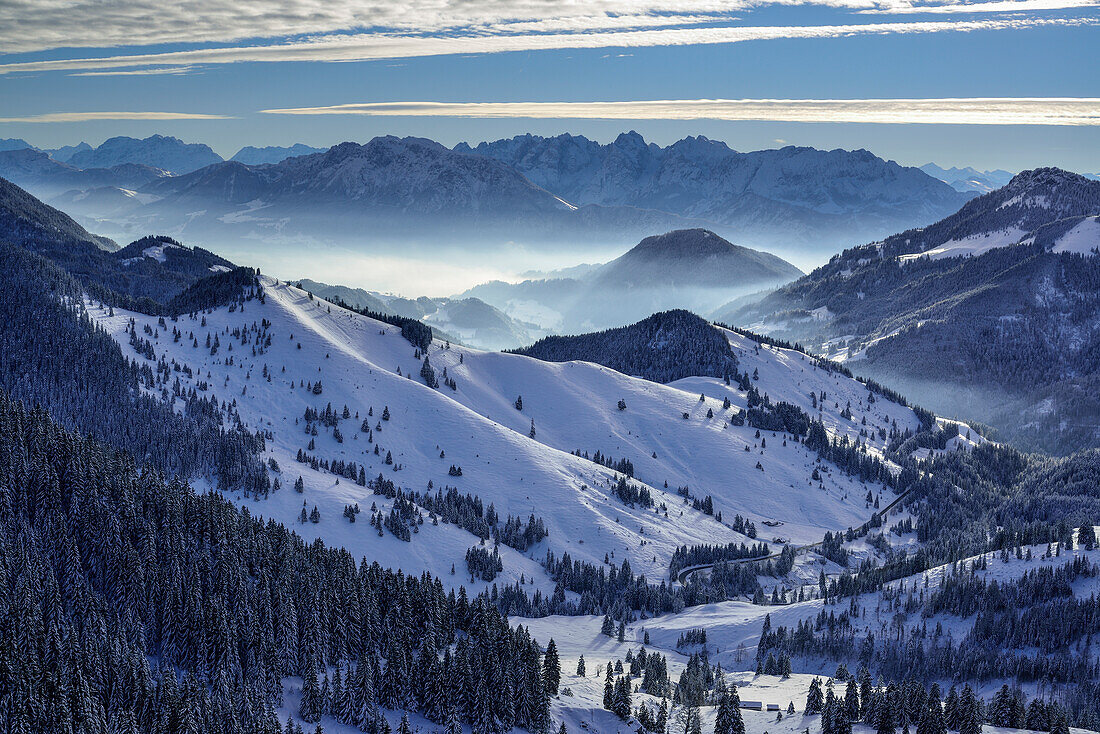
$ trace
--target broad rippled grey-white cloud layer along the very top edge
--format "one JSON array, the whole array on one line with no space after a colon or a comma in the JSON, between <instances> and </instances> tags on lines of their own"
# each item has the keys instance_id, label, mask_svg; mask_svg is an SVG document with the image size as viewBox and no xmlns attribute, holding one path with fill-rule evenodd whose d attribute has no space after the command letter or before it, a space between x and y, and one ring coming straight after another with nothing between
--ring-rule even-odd
<instances>
[{"instance_id":1,"label":"broad rippled grey-white cloud layer along the very top edge","mask_svg":"<svg viewBox=\"0 0 1100 734\"><path fill-rule=\"evenodd\" d=\"M484 34L591 33L612 29L728 21L766 6L818 6L865 12L1004 12L1096 8L1097 0L8 0L0 3L0 48L110 48L166 43L385 31Z\"/></svg>"}]
</instances>

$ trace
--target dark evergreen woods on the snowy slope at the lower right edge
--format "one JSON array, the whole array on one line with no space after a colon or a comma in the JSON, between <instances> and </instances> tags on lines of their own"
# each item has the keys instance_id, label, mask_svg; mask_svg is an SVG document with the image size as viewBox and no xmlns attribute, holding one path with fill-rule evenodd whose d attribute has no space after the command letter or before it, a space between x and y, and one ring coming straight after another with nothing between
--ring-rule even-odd
<instances>
[{"instance_id":1,"label":"dark evergreen woods on the snowy slope at the lower right edge","mask_svg":"<svg viewBox=\"0 0 1100 734\"><path fill-rule=\"evenodd\" d=\"M1009 581L986 580L982 566L956 569L932 591L919 583L882 592L889 615L919 614L974 618L965 636L955 639L939 625L891 626L890 635L857 633L857 605L837 614L822 611L816 620L794 628L766 623L757 648L760 660L776 655L850 660L854 655L888 680L933 681L1014 678L1064 686L1071 720L1088 726L1100 721L1100 665L1075 647L1100 632L1100 600L1077 599L1071 584L1094 578L1098 568L1075 557L1060 568L1040 567ZM882 613L882 610L879 612ZM1086 650L1088 647L1085 648ZM954 728L954 727L952 727Z\"/></svg>"}]
</instances>

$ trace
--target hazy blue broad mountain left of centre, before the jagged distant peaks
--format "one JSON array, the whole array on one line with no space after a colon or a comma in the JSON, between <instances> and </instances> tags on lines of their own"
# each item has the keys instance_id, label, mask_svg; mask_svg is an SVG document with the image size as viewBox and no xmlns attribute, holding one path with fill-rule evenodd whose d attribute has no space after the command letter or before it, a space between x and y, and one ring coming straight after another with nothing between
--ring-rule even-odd
<instances>
[{"instance_id":1,"label":"hazy blue broad mountain left of centre, before the jagged distant peaks","mask_svg":"<svg viewBox=\"0 0 1100 734\"><path fill-rule=\"evenodd\" d=\"M226 162L142 189L173 231L207 238L326 238L359 249L371 239L499 248L520 239L614 240L682 226L628 207L576 207L513 167L422 138L375 138L273 165ZM370 231L371 239L363 238Z\"/></svg>"}]
</instances>

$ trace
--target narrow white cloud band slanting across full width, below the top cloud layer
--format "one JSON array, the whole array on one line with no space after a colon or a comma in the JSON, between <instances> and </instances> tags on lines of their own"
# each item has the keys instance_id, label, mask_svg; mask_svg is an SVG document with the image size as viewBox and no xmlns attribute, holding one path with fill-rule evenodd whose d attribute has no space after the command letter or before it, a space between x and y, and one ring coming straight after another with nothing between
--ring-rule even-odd
<instances>
[{"instance_id":1,"label":"narrow white cloud band slanting across full width, below the top cloud layer","mask_svg":"<svg viewBox=\"0 0 1100 734\"><path fill-rule=\"evenodd\" d=\"M835 39L856 35L967 33L1046 25L1097 25L1098 18L1011 17L979 20L903 21L840 25L721 25L606 31L593 33L475 34L424 36L360 33L323 36L275 45L67 58L0 64L0 75L25 72L73 72L140 68L151 65L195 66L240 62L359 62L452 54L492 54L553 48L615 48L727 44L778 39Z\"/></svg>"}]
</instances>

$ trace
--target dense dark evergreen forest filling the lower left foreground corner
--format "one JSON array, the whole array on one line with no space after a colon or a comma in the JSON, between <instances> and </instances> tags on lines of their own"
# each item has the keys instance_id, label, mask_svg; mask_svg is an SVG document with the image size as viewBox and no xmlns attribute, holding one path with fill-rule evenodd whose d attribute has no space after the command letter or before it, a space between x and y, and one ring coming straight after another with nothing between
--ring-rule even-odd
<instances>
[{"instance_id":1,"label":"dense dark evergreen forest filling the lower left foreground corner","mask_svg":"<svg viewBox=\"0 0 1100 734\"><path fill-rule=\"evenodd\" d=\"M306 544L2 394L0 522L3 731L277 734L287 676L305 721L548 731L539 647L486 598Z\"/></svg>"}]
</instances>

